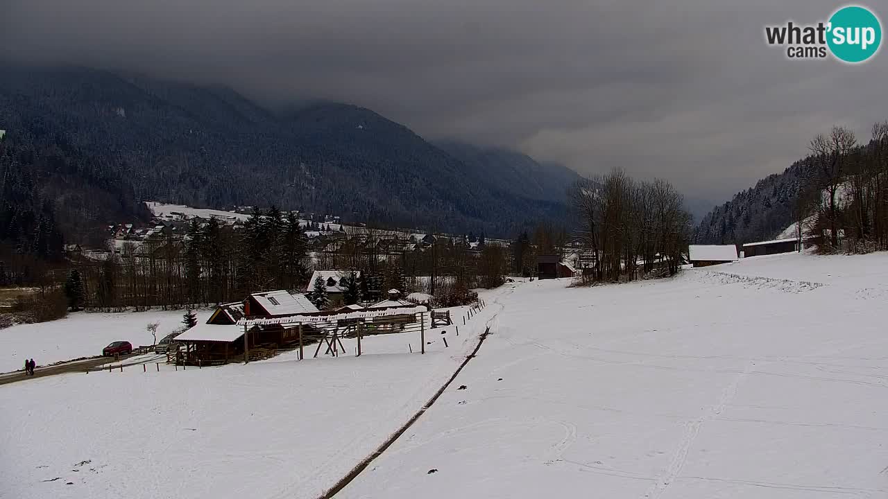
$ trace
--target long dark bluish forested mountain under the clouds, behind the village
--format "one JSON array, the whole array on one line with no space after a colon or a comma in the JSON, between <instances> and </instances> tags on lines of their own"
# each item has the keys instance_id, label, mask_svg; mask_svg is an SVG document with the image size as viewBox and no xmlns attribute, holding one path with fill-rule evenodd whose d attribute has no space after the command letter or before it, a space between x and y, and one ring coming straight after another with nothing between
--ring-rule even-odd
<instances>
[{"instance_id":1,"label":"long dark bluish forested mountain under the clouds, behind the village","mask_svg":"<svg viewBox=\"0 0 888 499\"><path fill-rule=\"evenodd\" d=\"M128 200L274 203L491 235L563 215L557 193L572 174L548 178L519 154L466 162L361 107L273 112L227 89L79 67L0 67L0 128L15 147L62 144L93 158L108 193Z\"/></svg>"}]
</instances>

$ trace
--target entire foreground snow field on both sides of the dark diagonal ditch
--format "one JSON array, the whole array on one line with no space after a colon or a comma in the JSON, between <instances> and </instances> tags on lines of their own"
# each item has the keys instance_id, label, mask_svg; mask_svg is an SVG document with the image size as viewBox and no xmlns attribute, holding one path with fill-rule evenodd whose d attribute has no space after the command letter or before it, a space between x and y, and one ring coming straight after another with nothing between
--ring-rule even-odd
<instances>
[{"instance_id":1,"label":"entire foreground snow field on both sides of the dark diagonal ditch","mask_svg":"<svg viewBox=\"0 0 888 499\"><path fill-rule=\"evenodd\" d=\"M424 356L392 335L357 359L6 384L0 490L317 497L489 323L478 356L337 497L885 497L886 278L888 253L589 289L525 282L488 293L459 338L448 328L448 349L430 335Z\"/></svg>"}]
</instances>

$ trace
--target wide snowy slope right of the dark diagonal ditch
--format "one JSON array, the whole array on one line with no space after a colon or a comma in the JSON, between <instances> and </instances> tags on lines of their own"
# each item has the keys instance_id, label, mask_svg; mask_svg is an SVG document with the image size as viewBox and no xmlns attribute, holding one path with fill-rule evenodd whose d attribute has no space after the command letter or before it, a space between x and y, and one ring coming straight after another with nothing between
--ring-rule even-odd
<instances>
[{"instance_id":1,"label":"wide snowy slope right of the dark diagonal ditch","mask_svg":"<svg viewBox=\"0 0 888 499\"><path fill-rule=\"evenodd\" d=\"M888 254L790 254L521 286L467 389L338 496L886 497L886 278Z\"/></svg>"}]
</instances>

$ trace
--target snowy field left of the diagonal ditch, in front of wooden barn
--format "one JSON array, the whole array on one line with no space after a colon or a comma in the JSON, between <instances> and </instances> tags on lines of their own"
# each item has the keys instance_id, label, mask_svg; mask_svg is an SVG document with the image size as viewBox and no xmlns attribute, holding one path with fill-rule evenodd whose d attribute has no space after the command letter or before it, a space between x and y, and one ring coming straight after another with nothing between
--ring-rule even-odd
<instances>
[{"instance_id":1,"label":"snowy field left of the diagonal ditch, in front of wooden barn","mask_svg":"<svg viewBox=\"0 0 888 499\"><path fill-rule=\"evenodd\" d=\"M458 337L426 331L425 355L405 333L365 337L360 358L312 359L310 345L303 361L287 352L246 367L0 385L0 496L313 499L424 406L496 309L463 326L465 310L453 309Z\"/></svg>"}]
</instances>

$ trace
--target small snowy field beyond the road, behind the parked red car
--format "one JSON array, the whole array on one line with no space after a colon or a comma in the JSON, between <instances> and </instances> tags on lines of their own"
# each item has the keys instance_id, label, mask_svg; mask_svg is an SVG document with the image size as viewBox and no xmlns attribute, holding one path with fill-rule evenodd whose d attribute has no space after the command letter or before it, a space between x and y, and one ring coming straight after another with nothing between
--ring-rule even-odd
<instances>
[{"instance_id":1,"label":"small snowy field beyond the road, behind the parked red car","mask_svg":"<svg viewBox=\"0 0 888 499\"><path fill-rule=\"evenodd\" d=\"M34 359L37 366L60 360L101 355L113 341L128 341L133 346L152 345L154 337L146 329L158 322L157 341L182 325L182 310L125 313L70 313L60 321L20 324L0 329L0 373L14 371ZM210 312L197 313L206 321Z\"/></svg>"}]
</instances>

